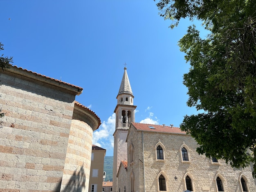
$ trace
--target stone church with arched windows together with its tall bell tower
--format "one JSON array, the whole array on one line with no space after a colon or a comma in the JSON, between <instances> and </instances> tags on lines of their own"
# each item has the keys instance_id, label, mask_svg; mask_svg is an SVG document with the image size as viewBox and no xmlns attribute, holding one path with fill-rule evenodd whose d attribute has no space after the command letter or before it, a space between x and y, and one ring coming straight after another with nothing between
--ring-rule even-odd
<instances>
[{"instance_id":1,"label":"stone church with arched windows together with its tall bell tower","mask_svg":"<svg viewBox=\"0 0 256 192\"><path fill-rule=\"evenodd\" d=\"M113 192L256 192L252 167L199 155L179 127L135 123L133 98L125 67L115 108Z\"/></svg>"}]
</instances>

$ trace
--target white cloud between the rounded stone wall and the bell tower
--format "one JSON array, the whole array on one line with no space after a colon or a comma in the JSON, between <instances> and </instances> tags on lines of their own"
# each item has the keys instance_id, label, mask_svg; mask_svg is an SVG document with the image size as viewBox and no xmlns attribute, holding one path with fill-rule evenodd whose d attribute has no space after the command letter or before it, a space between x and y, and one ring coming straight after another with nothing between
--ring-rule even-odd
<instances>
[{"instance_id":1,"label":"white cloud between the rounded stone wall and the bell tower","mask_svg":"<svg viewBox=\"0 0 256 192\"><path fill-rule=\"evenodd\" d=\"M99 129L93 132L92 143L112 151L114 147L113 133L115 132L116 115L112 114L107 121L103 121Z\"/></svg>"}]
</instances>

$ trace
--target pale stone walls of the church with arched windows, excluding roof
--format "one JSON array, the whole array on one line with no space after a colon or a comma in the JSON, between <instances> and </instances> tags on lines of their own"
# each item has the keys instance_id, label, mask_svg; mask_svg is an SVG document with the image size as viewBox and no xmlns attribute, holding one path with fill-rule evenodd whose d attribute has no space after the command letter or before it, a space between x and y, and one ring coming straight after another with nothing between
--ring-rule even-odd
<instances>
[{"instance_id":1,"label":"pale stone walls of the church with arched windows, excluding roof","mask_svg":"<svg viewBox=\"0 0 256 192\"><path fill-rule=\"evenodd\" d=\"M243 191L240 184L241 176L247 181L249 191L256 191L256 180L252 177L251 167L236 169L227 165L223 160L219 160L219 163L212 163L211 159L196 152L198 145L189 135L143 132L143 138L146 192L157 192L159 190L158 177L160 174L165 177L167 191L169 192L183 192L186 190L185 178L187 175L192 180L193 191L217 191L217 176L222 179L225 192ZM130 163L128 154L128 175L131 172L136 172L135 191L143 192L142 132L135 131L133 126L128 134L128 148L131 143L135 148L135 160L134 163ZM157 143L161 143L165 147L165 158L161 161L157 161L156 158L155 146ZM187 162L182 161L180 151L182 145L185 145L189 151L189 161Z\"/></svg>"}]
</instances>

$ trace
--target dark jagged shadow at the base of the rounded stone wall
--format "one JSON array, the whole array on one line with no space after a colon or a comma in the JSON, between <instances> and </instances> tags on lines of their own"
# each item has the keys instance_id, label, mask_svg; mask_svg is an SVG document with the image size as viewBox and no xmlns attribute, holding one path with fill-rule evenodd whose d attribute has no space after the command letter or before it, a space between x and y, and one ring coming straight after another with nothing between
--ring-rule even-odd
<instances>
[{"instance_id":1,"label":"dark jagged shadow at the base of the rounded stone wall","mask_svg":"<svg viewBox=\"0 0 256 192\"><path fill-rule=\"evenodd\" d=\"M61 189L61 182L58 183L58 186L54 191L56 192L82 192L85 189L85 172L83 166L79 171L77 169L73 172L73 175L70 176L69 182L64 185L64 189Z\"/></svg>"}]
</instances>

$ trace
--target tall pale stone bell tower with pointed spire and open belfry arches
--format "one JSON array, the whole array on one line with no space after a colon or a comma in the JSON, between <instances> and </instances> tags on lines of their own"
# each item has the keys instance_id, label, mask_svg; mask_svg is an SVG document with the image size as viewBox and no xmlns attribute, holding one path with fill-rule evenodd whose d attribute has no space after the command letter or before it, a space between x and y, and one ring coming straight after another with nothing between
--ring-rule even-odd
<instances>
[{"instance_id":1,"label":"tall pale stone bell tower with pointed spire and open belfry arches","mask_svg":"<svg viewBox=\"0 0 256 192\"><path fill-rule=\"evenodd\" d=\"M117 172L121 161L127 161L127 143L126 137L131 122L135 122L135 108L133 105L133 94L124 67L124 75L117 95L117 106L114 113L116 114L116 129L114 136L114 159L113 159L113 191L117 192Z\"/></svg>"}]
</instances>

